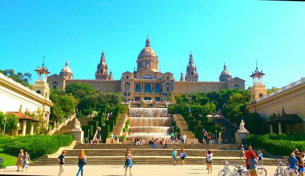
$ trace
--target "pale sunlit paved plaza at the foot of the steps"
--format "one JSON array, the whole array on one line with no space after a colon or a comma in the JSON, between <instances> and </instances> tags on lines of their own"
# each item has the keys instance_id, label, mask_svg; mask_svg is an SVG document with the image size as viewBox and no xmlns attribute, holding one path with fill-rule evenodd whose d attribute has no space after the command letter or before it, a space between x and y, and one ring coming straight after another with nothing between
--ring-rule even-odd
<instances>
[{"instance_id":1,"label":"pale sunlit paved plaza at the foot of the steps","mask_svg":"<svg viewBox=\"0 0 305 176\"><path fill-rule=\"evenodd\" d=\"M273 175L276 167L266 166L267 175ZM205 168L206 165L134 165L132 167L132 175L206 175L208 173ZM212 173L208 175L218 175L222 168L223 165L214 165ZM59 166L32 166L27 171L17 172L15 167L0 169L0 175L58 175L58 170ZM78 166L67 165L62 175L76 175L77 170ZM87 165L84 166L84 175L125 175L125 169L123 169L123 164L121 166Z\"/></svg>"}]
</instances>

